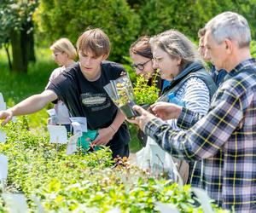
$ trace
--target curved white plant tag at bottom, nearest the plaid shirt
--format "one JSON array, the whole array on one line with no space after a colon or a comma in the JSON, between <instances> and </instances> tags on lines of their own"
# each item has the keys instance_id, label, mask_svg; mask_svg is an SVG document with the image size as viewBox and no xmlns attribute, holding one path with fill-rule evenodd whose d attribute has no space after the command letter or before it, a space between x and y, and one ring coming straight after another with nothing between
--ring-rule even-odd
<instances>
[{"instance_id":1,"label":"curved white plant tag at bottom, nearest the plaid shirt","mask_svg":"<svg viewBox=\"0 0 256 213\"><path fill-rule=\"evenodd\" d=\"M203 212L213 213L211 199L209 198L207 192L198 187L191 187L191 189L201 203Z\"/></svg>"}]
</instances>

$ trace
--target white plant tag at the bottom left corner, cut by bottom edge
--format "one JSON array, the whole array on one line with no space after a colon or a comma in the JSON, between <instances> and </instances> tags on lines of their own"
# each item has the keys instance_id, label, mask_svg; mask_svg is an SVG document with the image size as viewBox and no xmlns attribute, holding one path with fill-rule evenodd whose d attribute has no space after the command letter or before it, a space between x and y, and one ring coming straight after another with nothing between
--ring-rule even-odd
<instances>
[{"instance_id":1,"label":"white plant tag at the bottom left corner, cut by bottom edge","mask_svg":"<svg viewBox=\"0 0 256 213\"><path fill-rule=\"evenodd\" d=\"M25 213L28 212L26 198L21 193L3 193L4 202L9 206L11 213Z\"/></svg>"}]
</instances>

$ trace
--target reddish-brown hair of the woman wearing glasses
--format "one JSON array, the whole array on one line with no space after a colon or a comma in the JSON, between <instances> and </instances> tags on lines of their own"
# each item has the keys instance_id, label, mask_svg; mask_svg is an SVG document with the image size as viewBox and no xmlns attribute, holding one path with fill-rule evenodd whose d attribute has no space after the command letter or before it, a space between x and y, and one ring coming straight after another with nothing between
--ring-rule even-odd
<instances>
[{"instance_id":1,"label":"reddish-brown hair of the woman wearing glasses","mask_svg":"<svg viewBox=\"0 0 256 213\"><path fill-rule=\"evenodd\" d=\"M135 43L131 44L131 47L129 50L130 55L137 54L145 58L152 59L153 54L149 44L149 39L150 37L148 36L139 37Z\"/></svg>"}]
</instances>

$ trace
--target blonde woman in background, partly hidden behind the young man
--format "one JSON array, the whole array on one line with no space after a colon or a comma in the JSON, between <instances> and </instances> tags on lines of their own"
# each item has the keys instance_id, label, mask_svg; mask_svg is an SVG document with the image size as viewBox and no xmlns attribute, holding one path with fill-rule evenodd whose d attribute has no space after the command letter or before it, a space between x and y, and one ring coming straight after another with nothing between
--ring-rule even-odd
<instances>
[{"instance_id":1,"label":"blonde woman in background, partly hidden behind the young man","mask_svg":"<svg viewBox=\"0 0 256 213\"><path fill-rule=\"evenodd\" d=\"M55 41L55 43L53 43L49 49L52 50L54 60L60 67L56 68L51 73L49 83L47 84L46 88L55 78L64 72L68 66L72 66L77 58L76 49L66 37L62 37L61 39ZM67 131L70 132L70 116L66 105L59 100L55 103L54 109L55 118L49 118L48 124L64 125Z\"/></svg>"}]
</instances>

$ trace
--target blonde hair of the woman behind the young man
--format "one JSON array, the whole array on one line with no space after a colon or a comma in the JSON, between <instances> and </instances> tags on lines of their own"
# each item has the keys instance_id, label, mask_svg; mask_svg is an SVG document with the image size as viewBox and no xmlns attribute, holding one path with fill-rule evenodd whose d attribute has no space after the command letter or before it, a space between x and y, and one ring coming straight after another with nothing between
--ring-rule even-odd
<instances>
[{"instance_id":1,"label":"blonde hair of the woman behind the young man","mask_svg":"<svg viewBox=\"0 0 256 213\"><path fill-rule=\"evenodd\" d=\"M68 58L72 60L75 60L77 57L76 49L66 37L62 37L61 39L55 41L55 43L53 43L49 49L53 52L64 52L68 55Z\"/></svg>"}]
</instances>

